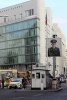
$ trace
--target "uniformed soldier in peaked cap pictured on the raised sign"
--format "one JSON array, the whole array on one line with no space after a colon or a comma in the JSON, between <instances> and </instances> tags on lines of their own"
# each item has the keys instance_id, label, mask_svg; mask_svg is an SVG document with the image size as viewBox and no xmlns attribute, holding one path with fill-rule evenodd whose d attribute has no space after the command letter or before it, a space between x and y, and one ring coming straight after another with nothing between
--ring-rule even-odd
<instances>
[{"instance_id":1,"label":"uniformed soldier in peaked cap pictured on the raised sign","mask_svg":"<svg viewBox=\"0 0 67 100\"><path fill-rule=\"evenodd\" d=\"M57 40L52 39L51 41L52 47L48 48L48 57L51 56L60 56L60 50L56 47Z\"/></svg>"}]
</instances>

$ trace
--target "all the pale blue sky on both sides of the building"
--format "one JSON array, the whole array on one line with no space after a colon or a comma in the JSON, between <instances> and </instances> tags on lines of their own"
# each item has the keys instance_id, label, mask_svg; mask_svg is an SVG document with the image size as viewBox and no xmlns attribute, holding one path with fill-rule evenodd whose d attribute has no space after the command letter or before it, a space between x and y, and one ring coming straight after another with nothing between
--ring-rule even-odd
<instances>
[{"instance_id":1,"label":"all the pale blue sky on both sides of the building","mask_svg":"<svg viewBox=\"0 0 67 100\"><path fill-rule=\"evenodd\" d=\"M29 0L0 0L0 9ZM45 0L45 7L52 10L53 22L58 23L67 39L67 0Z\"/></svg>"}]
</instances>

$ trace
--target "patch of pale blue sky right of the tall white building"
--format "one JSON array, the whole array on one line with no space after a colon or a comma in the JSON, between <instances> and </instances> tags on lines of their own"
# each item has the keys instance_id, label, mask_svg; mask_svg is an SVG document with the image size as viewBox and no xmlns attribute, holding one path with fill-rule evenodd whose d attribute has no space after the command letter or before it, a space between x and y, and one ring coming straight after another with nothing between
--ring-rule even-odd
<instances>
[{"instance_id":1,"label":"patch of pale blue sky right of the tall white building","mask_svg":"<svg viewBox=\"0 0 67 100\"><path fill-rule=\"evenodd\" d=\"M67 0L45 0L52 10L53 22L58 23L67 40Z\"/></svg>"}]
</instances>

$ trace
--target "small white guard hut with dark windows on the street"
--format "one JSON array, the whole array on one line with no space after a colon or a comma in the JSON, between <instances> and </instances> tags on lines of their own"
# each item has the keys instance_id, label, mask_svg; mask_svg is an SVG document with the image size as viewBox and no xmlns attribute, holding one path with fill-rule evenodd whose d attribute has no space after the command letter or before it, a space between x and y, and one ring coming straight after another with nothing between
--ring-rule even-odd
<instances>
[{"instance_id":1,"label":"small white guard hut with dark windows on the street","mask_svg":"<svg viewBox=\"0 0 67 100\"><path fill-rule=\"evenodd\" d=\"M49 70L46 70L46 66L33 66L32 67L32 85L31 89L35 90L44 90L46 85L46 73Z\"/></svg>"}]
</instances>

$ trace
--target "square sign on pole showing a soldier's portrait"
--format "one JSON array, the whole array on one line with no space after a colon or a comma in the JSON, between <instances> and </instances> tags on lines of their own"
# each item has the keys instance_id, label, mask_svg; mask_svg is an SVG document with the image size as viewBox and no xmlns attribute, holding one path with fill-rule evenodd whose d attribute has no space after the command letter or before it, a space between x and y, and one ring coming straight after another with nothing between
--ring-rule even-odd
<instances>
[{"instance_id":1,"label":"square sign on pole showing a soldier's portrait","mask_svg":"<svg viewBox=\"0 0 67 100\"><path fill-rule=\"evenodd\" d=\"M46 46L47 57L62 56L61 38L47 38Z\"/></svg>"}]
</instances>

